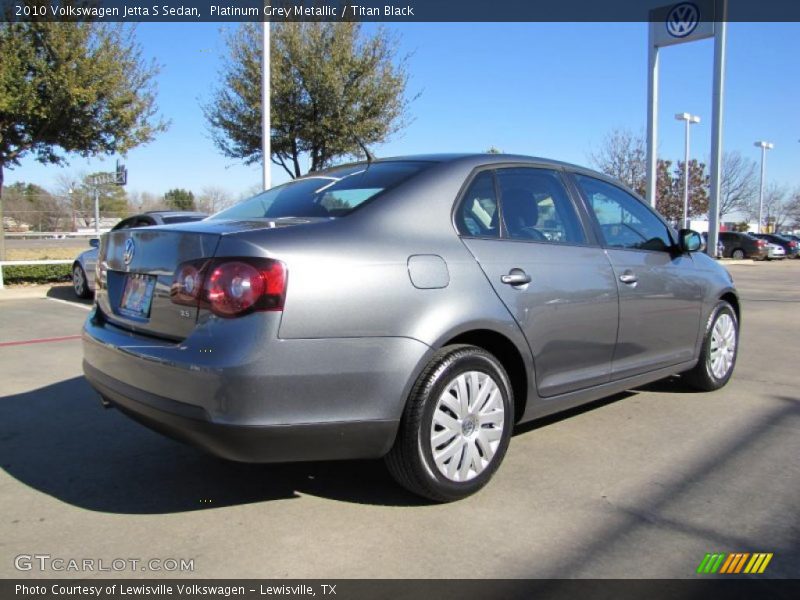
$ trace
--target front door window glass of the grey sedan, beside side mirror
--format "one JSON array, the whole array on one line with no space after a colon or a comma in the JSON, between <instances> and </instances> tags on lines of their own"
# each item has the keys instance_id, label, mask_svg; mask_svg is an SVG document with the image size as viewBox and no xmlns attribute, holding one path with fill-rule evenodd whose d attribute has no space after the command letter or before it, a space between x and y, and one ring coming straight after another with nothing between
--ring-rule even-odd
<instances>
[{"instance_id":1,"label":"front door window glass of the grey sedan, beside side mirror","mask_svg":"<svg viewBox=\"0 0 800 600\"><path fill-rule=\"evenodd\" d=\"M600 223L607 246L656 251L672 247L666 225L634 196L593 177L575 175L575 179Z\"/></svg>"}]
</instances>

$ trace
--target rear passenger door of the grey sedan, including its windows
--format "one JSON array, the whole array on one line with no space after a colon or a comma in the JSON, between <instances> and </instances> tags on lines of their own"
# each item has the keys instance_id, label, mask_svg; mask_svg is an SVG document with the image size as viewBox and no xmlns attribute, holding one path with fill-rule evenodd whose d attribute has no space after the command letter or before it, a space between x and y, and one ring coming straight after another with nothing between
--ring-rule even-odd
<instances>
[{"instance_id":1,"label":"rear passenger door of the grey sedan, including its windows","mask_svg":"<svg viewBox=\"0 0 800 600\"><path fill-rule=\"evenodd\" d=\"M609 381L617 335L614 273L602 248L590 243L561 174L482 171L462 197L456 223L525 334L539 395Z\"/></svg>"}]
</instances>

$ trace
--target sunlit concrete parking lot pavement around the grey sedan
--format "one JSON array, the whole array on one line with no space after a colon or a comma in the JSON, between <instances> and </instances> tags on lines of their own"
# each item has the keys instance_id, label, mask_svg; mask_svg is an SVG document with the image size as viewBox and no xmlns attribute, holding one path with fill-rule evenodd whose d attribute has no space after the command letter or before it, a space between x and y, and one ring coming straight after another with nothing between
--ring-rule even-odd
<instances>
[{"instance_id":1,"label":"sunlit concrete parking lot pavement around the grey sedan","mask_svg":"<svg viewBox=\"0 0 800 600\"><path fill-rule=\"evenodd\" d=\"M672 380L526 426L483 492L444 506L379 461L242 465L152 433L83 380L88 305L0 292L0 576L680 578L721 551L800 577L800 260L730 269L726 388ZM194 571L21 572L21 554Z\"/></svg>"}]
</instances>

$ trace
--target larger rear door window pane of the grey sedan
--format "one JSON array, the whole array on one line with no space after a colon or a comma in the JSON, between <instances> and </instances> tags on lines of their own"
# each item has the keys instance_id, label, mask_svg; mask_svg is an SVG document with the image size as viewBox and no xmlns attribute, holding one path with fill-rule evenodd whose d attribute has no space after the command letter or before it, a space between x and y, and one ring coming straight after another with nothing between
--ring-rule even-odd
<instances>
[{"instance_id":1,"label":"larger rear door window pane of the grey sedan","mask_svg":"<svg viewBox=\"0 0 800 600\"><path fill-rule=\"evenodd\" d=\"M575 206L558 172L498 169L497 187L509 238L562 244L586 242Z\"/></svg>"}]
</instances>

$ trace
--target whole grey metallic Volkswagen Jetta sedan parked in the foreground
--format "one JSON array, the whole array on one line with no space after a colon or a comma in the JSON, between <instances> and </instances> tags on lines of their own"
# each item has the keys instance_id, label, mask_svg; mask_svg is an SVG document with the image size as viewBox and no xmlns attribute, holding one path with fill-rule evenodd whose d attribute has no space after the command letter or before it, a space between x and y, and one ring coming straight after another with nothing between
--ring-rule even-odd
<instances>
[{"instance_id":1,"label":"whole grey metallic Volkswagen Jetta sedan parked in the foreground","mask_svg":"<svg viewBox=\"0 0 800 600\"><path fill-rule=\"evenodd\" d=\"M105 236L84 371L105 403L219 456L385 457L456 500L515 423L677 373L727 383L739 301L700 246L564 163L342 166Z\"/></svg>"}]
</instances>

